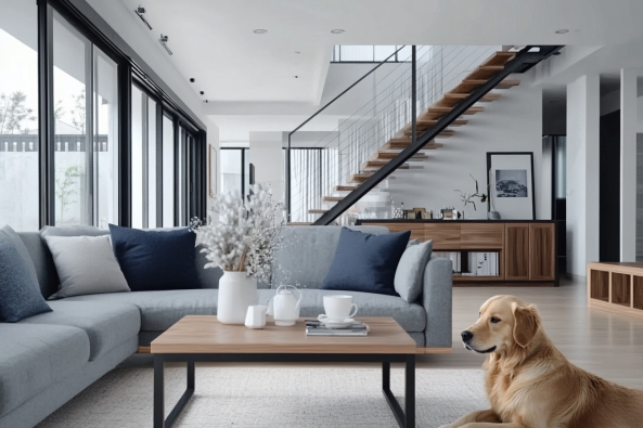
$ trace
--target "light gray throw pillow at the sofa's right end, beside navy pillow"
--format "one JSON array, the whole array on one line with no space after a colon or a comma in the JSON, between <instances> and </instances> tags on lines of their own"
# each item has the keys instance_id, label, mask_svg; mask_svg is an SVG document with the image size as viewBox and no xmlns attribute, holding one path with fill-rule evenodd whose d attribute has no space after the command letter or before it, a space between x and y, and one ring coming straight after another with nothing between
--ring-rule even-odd
<instances>
[{"instance_id":1,"label":"light gray throw pillow at the sofa's right end, beside navy pillow","mask_svg":"<svg viewBox=\"0 0 643 428\"><path fill-rule=\"evenodd\" d=\"M395 290L409 303L414 302L422 296L422 278L430 252L433 241L417 245L409 245L395 271Z\"/></svg>"}]
</instances>

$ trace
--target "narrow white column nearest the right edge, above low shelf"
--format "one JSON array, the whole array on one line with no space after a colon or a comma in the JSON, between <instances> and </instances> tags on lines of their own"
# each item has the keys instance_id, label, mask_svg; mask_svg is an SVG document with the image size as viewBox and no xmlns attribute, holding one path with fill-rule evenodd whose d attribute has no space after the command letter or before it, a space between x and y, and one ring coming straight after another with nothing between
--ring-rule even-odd
<instances>
[{"instance_id":1,"label":"narrow white column nearest the right edge, above low shelf","mask_svg":"<svg viewBox=\"0 0 643 428\"><path fill-rule=\"evenodd\" d=\"M620 70L620 261L636 261L636 70Z\"/></svg>"}]
</instances>

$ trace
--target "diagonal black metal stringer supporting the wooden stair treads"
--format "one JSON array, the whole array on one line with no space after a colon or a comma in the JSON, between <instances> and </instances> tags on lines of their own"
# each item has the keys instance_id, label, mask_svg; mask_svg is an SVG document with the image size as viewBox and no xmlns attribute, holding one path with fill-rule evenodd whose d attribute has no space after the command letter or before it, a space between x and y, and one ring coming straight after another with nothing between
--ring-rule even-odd
<instances>
[{"instance_id":1,"label":"diagonal black metal stringer supporting the wooden stair treads","mask_svg":"<svg viewBox=\"0 0 643 428\"><path fill-rule=\"evenodd\" d=\"M344 211L357 204L359 199L362 198L362 196L366 195L390 173L393 173L414 154L422 150L426 143L435 139L440 132L447 129L455 119L462 116L470 107L477 103L493 88L496 88L498 83L504 80L509 75L514 73L525 73L541 61L544 61L551 55L556 54L563 48L563 46L528 46L520 50L513 60L504 65L504 69L502 72L499 72L484 85L476 88L466 99L458 103L451 109L451 112L440 117L436 125L425 130L422 134L417 135L415 144L411 144L404 148L396 157L390 159L386 166L375 171L361 185L359 185L357 190L350 192L344 199L335 204L333 207L331 207L331 209L317 219L313 225L331 224L337 217L342 216ZM538 49L538 52L533 51L535 49Z\"/></svg>"}]
</instances>

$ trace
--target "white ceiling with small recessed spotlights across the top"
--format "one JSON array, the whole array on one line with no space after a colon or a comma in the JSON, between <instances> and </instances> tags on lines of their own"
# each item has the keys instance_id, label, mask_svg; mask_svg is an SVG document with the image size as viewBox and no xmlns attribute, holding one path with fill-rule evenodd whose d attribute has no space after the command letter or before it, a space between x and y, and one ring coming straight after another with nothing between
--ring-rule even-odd
<instances>
[{"instance_id":1,"label":"white ceiling with small recessed spotlights across the top","mask_svg":"<svg viewBox=\"0 0 643 428\"><path fill-rule=\"evenodd\" d=\"M171 63L213 101L318 103L333 44L595 46L643 36L641 0L121 1L132 14L145 7L146 37L168 35Z\"/></svg>"}]
</instances>

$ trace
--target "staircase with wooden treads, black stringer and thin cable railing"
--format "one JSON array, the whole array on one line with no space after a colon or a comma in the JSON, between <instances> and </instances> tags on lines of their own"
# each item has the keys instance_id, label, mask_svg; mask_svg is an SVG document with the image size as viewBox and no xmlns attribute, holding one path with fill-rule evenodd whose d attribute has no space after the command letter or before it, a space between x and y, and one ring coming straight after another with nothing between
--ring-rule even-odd
<instances>
[{"instance_id":1,"label":"staircase with wooden treads, black stringer and thin cable railing","mask_svg":"<svg viewBox=\"0 0 643 428\"><path fill-rule=\"evenodd\" d=\"M374 212L389 212L386 189L388 180L395 179L393 172L422 168L421 163L430 158L428 153L442 147L442 141L455 134L451 128L465 126L468 116L484 112L477 103L501 99L500 93L491 90L519 85L519 80L507 77L526 72L561 48L539 46L499 51L493 47L412 47L410 61L393 67L375 82L371 102L340 119L336 130L309 147L326 153L326 161L294 171L293 153L297 148L293 144L297 133L305 132L303 128L321 112L340 104L385 60L288 134L288 221L331 224L358 204ZM417 111L422 113L417 115ZM313 185L310 177L314 178Z\"/></svg>"}]
</instances>

